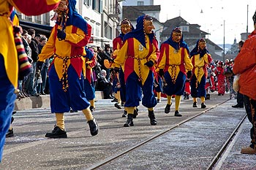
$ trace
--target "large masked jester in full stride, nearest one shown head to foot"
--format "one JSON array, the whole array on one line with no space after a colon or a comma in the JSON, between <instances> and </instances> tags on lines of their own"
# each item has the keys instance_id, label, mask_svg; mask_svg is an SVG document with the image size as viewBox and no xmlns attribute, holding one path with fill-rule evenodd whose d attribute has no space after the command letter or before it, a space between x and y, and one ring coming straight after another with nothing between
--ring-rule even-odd
<instances>
[{"instance_id":1,"label":"large masked jester in full stride, nearest one shown head to foot","mask_svg":"<svg viewBox=\"0 0 256 170\"><path fill-rule=\"evenodd\" d=\"M97 135L98 127L91 115L89 101L80 84L83 76L86 51L84 47L91 37L91 26L75 11L75 0L61 1L56 12L59 18L47 44L39 55L39 66L53 56L49 69L50 108L56 114L56 126L45 136L67 138L64 130L64 112L82 110L89 123L91 135ZM65 8L66 7L66 8Z\"/></svg>"}]
</instances>

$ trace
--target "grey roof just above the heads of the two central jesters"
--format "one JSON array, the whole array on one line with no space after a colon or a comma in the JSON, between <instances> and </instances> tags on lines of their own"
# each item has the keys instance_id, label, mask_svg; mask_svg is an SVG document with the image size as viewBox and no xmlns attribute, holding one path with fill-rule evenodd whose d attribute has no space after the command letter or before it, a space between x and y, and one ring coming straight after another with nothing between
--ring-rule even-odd
<instances>
[{"instance_id":1,"label":"grey roof just above the heads of the two central jesters","mask_svg":"<svg viewBox=\"0 0 256 170\"><path fill-rule=\"evenodd\" d=\"M123 18L137 20L139 16L145 15L147 11L160 11L160 7L160 5L123 6Z\"/></svg>"}]
</instances>

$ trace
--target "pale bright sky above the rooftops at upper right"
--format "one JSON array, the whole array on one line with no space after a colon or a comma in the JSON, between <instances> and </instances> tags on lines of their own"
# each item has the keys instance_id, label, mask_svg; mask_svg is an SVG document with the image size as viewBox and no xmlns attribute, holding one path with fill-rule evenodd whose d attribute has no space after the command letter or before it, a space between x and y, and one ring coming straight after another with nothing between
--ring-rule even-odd
<instances>
[{"instance_id":1,"label":"pale bright sky above the rooftops at upper right","mask_svg":"<svg viewBox=\"0 0 256 170\"><path fill-rule=\"evenodd\" d=\"M256 10L256 0L154 0L161 5L160 22L181 16L190 24L200 25L200 30L208 32L217 45L239 42L241 33L246 33L247 5L248 32L254 30L252 16Z\"/></svg>"}]
</instances>

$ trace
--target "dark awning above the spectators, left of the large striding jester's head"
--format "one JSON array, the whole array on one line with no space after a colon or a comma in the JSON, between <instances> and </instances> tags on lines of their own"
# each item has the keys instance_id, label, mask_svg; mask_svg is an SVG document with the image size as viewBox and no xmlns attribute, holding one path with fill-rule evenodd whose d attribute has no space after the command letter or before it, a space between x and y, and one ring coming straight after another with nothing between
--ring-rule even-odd
<instances>
[{"instance_id":1,"label":"dark awning above the spectators, left of the large striding jester's head","mask_svg":"<svg viewBox=\"0 0 256 170\"><path fill-rule=\"evenodd\" d=\"M23 20L20 20L20 26L26 30L28 30L29 28L33 28L36 31L36 34L44 34L45 36L50 36L50 32L53 28L52 26L45 26L38 23L31 23Z\"/></svg>"}]
</instances>

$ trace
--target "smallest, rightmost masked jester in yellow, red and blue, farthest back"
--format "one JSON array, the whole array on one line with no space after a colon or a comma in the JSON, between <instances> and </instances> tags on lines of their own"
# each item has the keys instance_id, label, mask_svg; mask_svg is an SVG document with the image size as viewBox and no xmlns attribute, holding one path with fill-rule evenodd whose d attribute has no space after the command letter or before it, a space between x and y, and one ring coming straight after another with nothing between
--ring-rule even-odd
<instances>
[{"instance_id":1,"label":"smallest, rightmost masked jester in yellow, red and blue, farthest back","mask_svg":"<svg viewBox=\"0 0 256 170\"><path fill-rule=\"evenodd\" d=\"M211 63L211 55L206 50L206 40L198 39L195 48L189 53L193 64L192 77L190 81L193 107L197 107L197 97L201 98L201 108L206 108L206 78L208 71L206 66Z\"/></svg>"}]
</instances>

